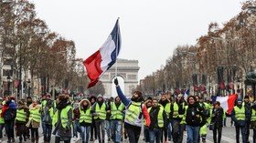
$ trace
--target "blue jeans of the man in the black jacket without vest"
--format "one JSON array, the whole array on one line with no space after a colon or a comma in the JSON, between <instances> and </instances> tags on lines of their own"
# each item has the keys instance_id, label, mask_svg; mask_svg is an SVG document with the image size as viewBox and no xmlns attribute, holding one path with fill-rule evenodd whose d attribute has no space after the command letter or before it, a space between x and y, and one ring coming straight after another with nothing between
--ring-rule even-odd
<instances>
[{"instance_id":1,"label":"blue jeans of the man in the black jacket without vest","mask_svg":"<svg viewBox=\"0 0 256 143\"><path fill-rule=\"evenodd\" d=\"M187 143L197 143L200 127L192 127L192 126L186 125L186 128L187 128Z\"/></svg>"}]
</instances>

